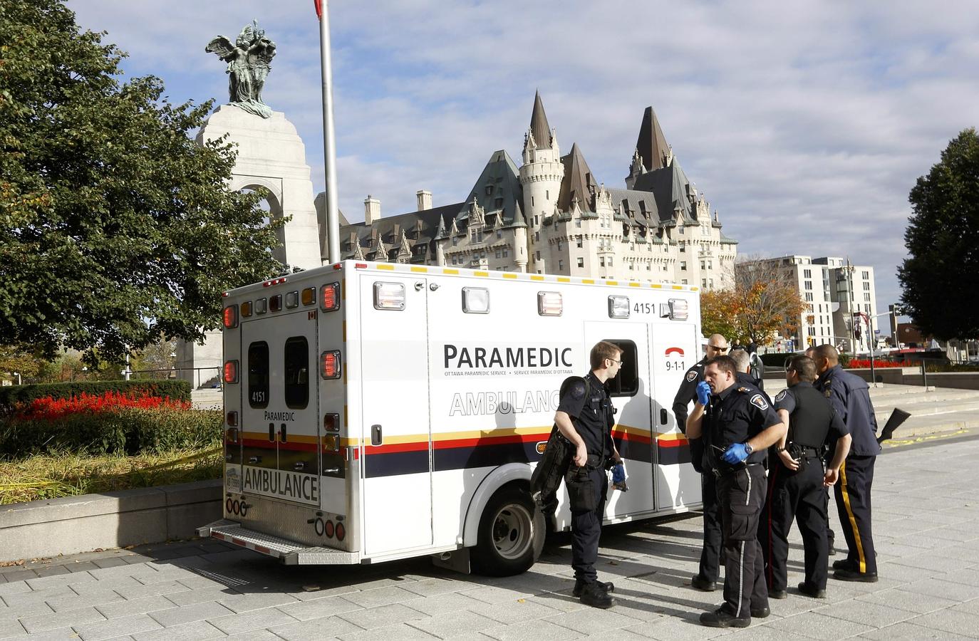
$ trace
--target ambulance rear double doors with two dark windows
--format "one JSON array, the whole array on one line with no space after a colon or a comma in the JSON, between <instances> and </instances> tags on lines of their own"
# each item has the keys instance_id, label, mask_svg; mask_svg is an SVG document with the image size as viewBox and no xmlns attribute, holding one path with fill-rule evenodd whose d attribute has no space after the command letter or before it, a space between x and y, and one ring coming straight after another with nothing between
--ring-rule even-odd
<instances>
[{"instance_id":1,"label":"ambulance rear double doors with two dark windows","mask_svg":"<svg viewBox=\"0 0 979 641\"><path fill-rule=\"evenodd\" d=\"M316 317L282 298L262 301L265 316L242 324L242 490L318 506Z\"/></svg>"}]
</instances>

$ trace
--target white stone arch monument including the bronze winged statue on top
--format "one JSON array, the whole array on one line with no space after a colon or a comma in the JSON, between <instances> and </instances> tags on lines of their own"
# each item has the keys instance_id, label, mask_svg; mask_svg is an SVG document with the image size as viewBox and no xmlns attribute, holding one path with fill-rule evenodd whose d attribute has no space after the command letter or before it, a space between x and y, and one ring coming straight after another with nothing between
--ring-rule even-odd
<instances>
[{"instance_id":1,"label":"white stone arch monument including the bronze winged statue on top","mask_svg":"<svg viewBox=\"0 0 979 641\"><path fill-rule=\"evenodd\" d=\"M273 112L261 99L275 43L253 22L234 44L217 36L205 51L227 63L228 103L210 114L197 134L198 144L227 137L238 153L228 188L262 187L269 217L289 217L278 229L275 257L290 267L319 267L322 241L303 140L285 114ZM216 382L221 365L220 332L209 333L204 344L177 345L180 378L195 389Z\"/></svg>"}]
</instances>

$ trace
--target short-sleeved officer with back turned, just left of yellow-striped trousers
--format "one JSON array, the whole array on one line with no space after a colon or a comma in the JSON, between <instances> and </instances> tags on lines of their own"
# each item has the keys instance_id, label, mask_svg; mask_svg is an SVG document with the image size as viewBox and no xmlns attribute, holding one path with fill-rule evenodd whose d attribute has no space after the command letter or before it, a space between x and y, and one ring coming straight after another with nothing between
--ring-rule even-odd
<instances>
[{"instance_id":1,"label":"short-sleeved officer with back turned, just left of yellow-striped trousers","mask_svg":"<svg viewBox=\"0 0 979 641\"><path fill-rule=\"evenodd\" d=\"M806 580L799 591L816 599L826 596L826 490L836 482L840 465L850 450L850 434L832 405L813 387L816 363L809 356L793 356L785 368L783 389L775 395L778 418L789 426L776 443L769 463L769 496L762 513L759 542L765 555L769 597L787 596L789 529L793 517L802 533ZM835 445L828 468L822 469L825 443Z\"/></svg>"}]
</instances>

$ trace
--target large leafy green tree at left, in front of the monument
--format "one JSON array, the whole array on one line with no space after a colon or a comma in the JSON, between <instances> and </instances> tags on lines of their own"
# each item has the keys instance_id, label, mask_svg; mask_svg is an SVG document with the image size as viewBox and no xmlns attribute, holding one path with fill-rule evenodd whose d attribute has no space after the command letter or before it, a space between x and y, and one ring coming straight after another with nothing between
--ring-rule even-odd
<instances>
[{"instance_id":1,"label":"large leafy green tree at left, in front of the monument","mask_svg":"<svg viewBox=\"0 0 979 641\"><path fill-rule=\"evenodd\" d=\"M0 340L94 364L197 340L223 290L280 273L260 193L229 192L234 150L190 137L210 102L174 107L153 76L80 32L59 0L3 0ZM97 355L96 355L97 350Z\"/></svg>"}]
</instances>

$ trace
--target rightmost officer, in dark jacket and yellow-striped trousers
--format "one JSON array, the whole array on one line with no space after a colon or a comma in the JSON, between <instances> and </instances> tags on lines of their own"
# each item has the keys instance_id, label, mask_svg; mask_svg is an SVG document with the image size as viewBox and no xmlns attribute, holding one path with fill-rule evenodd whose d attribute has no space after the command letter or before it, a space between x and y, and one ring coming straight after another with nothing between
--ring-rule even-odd
<instances>
[{"instance_id":1,"label":"rightmost officer, in dark jacket and yellow-striped trousers","mask_svg":"<svg viewBox=\"0 0 979 641\"><path fill-rule=\"evenodd\" d=\"M846 559L833 562L833 577L873 583L877 580L877 560L870 528L870 486L880 444L870 390L862 378L840 367L840 355L833 345L816 346L813 360L819 374L816 389L829 399L853 438L850 453L840 467L840 481L833 485L848 549Z\"/></svg>"}]
</instances>

